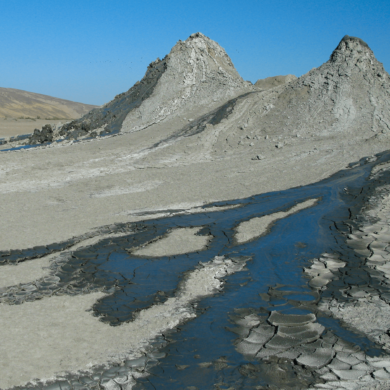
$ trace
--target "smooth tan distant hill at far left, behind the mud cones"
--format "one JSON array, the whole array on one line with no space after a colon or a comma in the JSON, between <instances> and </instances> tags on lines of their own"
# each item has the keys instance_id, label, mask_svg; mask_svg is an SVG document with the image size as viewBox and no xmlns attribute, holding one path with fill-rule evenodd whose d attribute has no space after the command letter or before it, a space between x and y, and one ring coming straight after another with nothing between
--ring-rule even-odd
<instances>
[{"instance_id":1,"label":"smooth tan distant hill at far left, behind the mud cones","mask_svg":"<svg viewBox=\"0 0 390 390\"><path fill-rule=\"evenodd\" d=\"M77 119L95 107L20 89L0 88L0 118Z\"/></svg>"}]
</instances>

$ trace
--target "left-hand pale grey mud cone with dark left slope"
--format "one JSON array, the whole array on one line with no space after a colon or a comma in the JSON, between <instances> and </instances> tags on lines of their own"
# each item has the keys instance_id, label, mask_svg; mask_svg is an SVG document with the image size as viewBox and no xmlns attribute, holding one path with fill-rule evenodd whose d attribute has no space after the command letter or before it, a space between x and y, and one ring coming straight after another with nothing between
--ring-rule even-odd
<instances>
[{"instance_id":1,"label":"left-hand pale grey mud cone with dark left slope","mask_svg":"<svg viewBox=\"0 0 390 390\"><path fill-rule=\"evenodd\" d=\"M179 41L162 60L152 62L140 82L103 107L63 126L62 135L132 132L184 115L204 111L248 88L225 50L201 33ZM74 133L83 127L85 134Z\"/></svg>"}]
</instances>

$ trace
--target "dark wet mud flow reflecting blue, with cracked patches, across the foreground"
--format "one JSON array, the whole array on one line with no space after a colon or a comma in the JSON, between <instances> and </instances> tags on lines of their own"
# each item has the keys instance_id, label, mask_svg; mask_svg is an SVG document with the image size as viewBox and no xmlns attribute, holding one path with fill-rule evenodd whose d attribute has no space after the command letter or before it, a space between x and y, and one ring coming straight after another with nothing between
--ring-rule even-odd
<instances>
[{"instance_id":1,"label":"dark wet mud flow reflecting blue, with cracked patches, across the foreground","mask_svg":"<svg viewBox=\"0 0 390 390\"><path fill-rule=\"evenodd\" d=\"M388 293L347 236L375 188L389 182L385 174L370 179L372 168L389 159L384 153L312 185L214 203L194 214L106 227L124 233L71 251L51 266L51 284L38 281L31 293L22 285L3 289L5 304L103 291L91 315L121 327L145 309L186 296L195 271L217 281L204 287L207 294L194 292L190 316L156 335L142 357L24 388L304 389L346 379L343 370L350 379L372 375L362 365L385 352L319 304L348 302L353 289ZM159 241L190 228L197 228L202 247L159 252ZM6 265L61 256L76 241L4 252L0 259Z\"/></svg>"}]
</instances>

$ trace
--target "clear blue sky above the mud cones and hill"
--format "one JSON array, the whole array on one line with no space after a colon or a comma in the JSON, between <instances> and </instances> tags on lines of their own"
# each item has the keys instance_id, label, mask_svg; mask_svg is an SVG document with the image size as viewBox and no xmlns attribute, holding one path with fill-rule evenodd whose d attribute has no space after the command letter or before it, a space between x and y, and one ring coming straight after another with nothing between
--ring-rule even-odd
<instances>
[{"instance_id":1,"label":"clear blue sky above the mud cones and hill","mask_svg":"<svg viewBox=\"0 0 390 390\"><path fill-rule=\"evenodd\" d=\"M0 31L0 87L98 105L198 31L252 82L306 73L346 34L390 70L390 0L0 0Z\"/></svg>"}]
</instances>

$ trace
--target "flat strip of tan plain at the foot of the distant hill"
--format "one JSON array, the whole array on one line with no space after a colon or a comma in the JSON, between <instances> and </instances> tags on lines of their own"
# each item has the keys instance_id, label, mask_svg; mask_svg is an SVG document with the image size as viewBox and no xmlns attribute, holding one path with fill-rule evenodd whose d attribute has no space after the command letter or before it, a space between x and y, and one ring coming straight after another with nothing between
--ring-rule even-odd
<instances>
[{"instance_id":1,"label":"flat strip of tan plain at the foot of the distant hill","mask_svg":"<svg viewBox=\"0 0 390 390\"><path fill-rule=\"evenodd\" d=\"M41 129L46 124L57 124L58 122L66 123L71 119L48 120L48 119L16 119L0 118L0 138L14 137L16 135L31 134L34 129Z\"/></svg>"}]
</instances>

